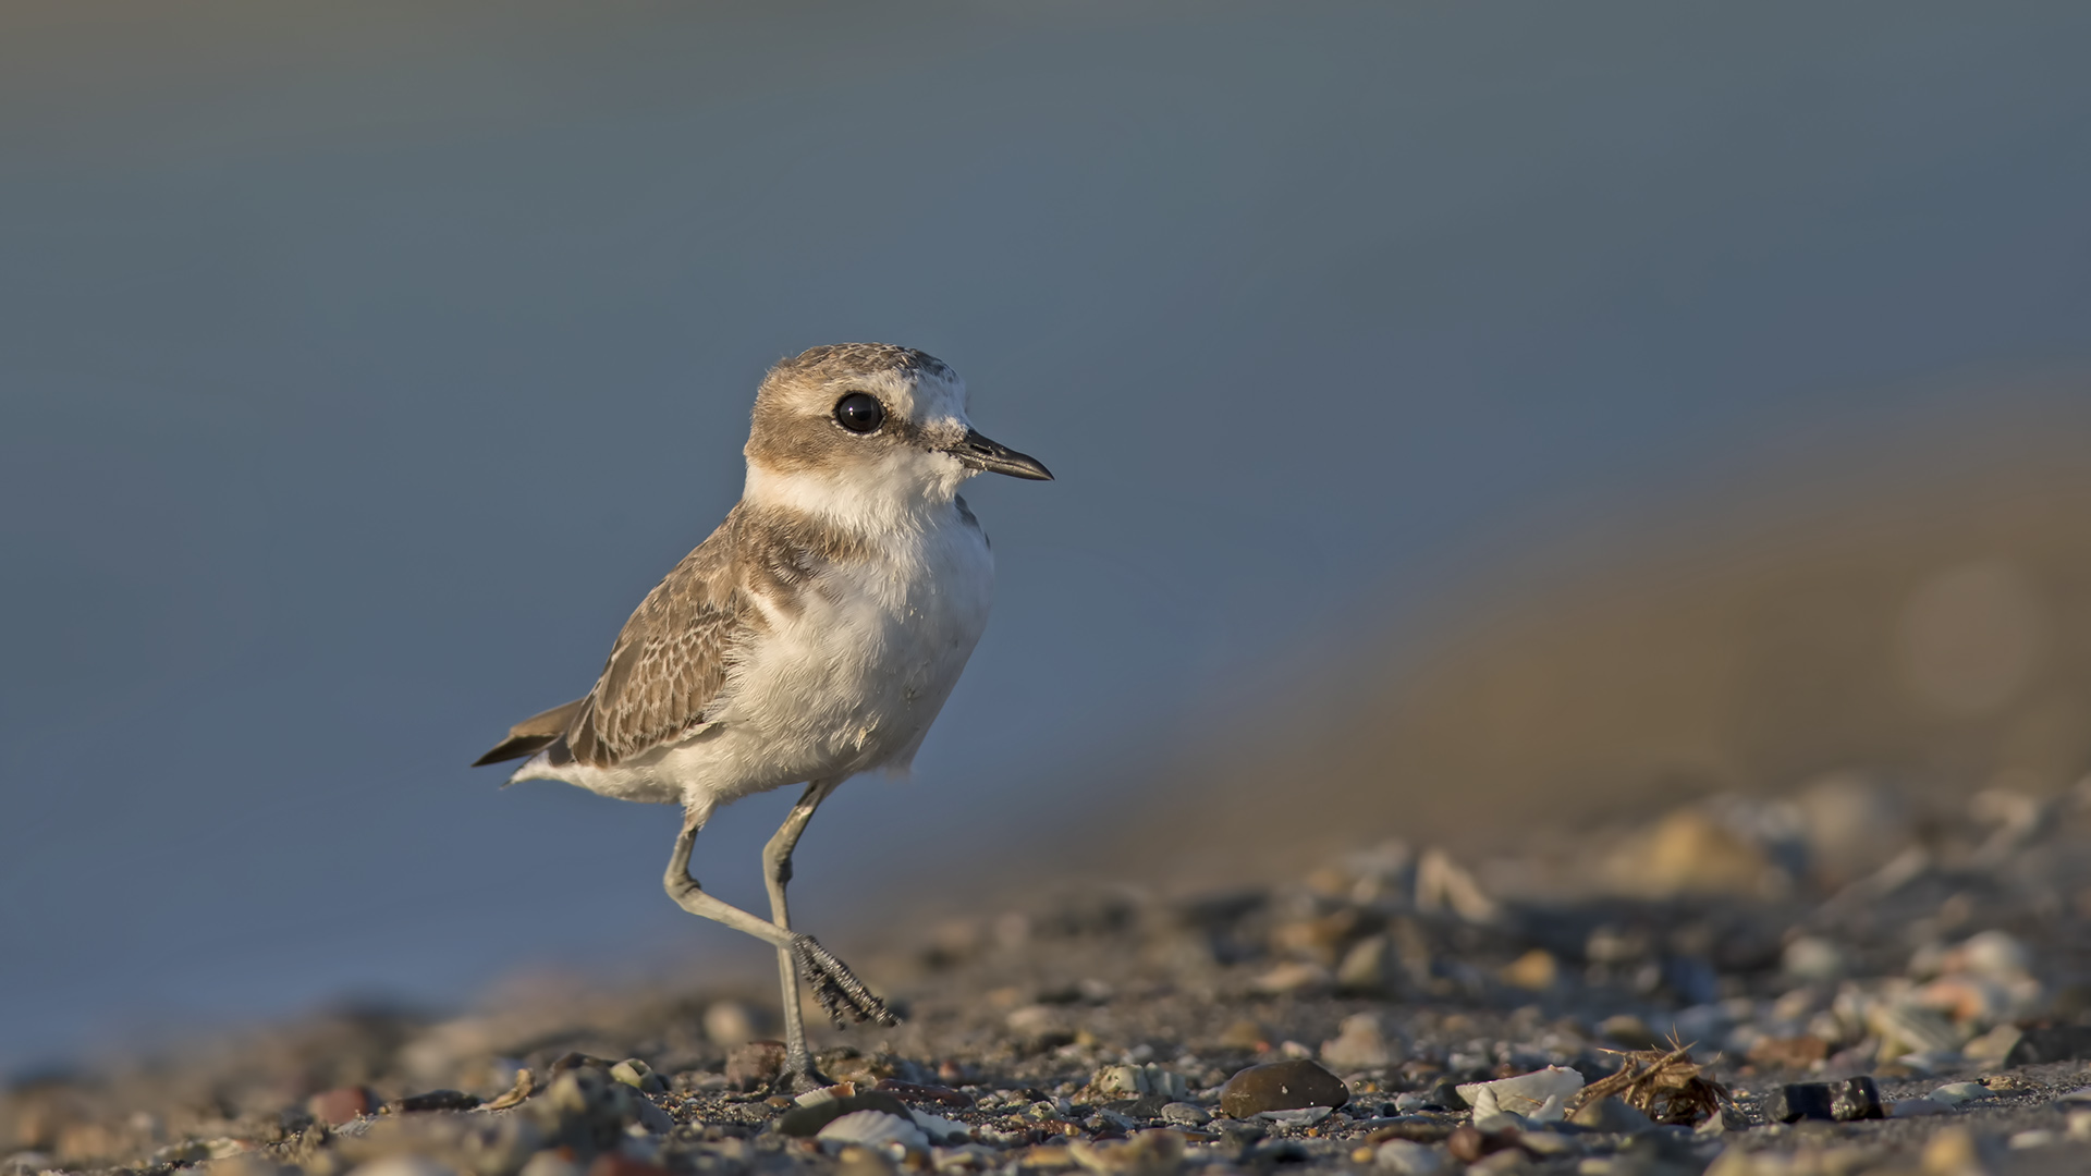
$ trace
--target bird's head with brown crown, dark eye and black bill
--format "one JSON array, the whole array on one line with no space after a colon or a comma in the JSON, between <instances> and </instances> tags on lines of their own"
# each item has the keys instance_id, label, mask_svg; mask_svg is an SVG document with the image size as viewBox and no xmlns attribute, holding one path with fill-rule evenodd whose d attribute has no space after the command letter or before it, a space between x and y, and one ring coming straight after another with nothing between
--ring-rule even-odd
<instances>
[{"instance_id":1,"label":"bird's head with brown crown, dark eye and black bill","mask_svg":"<svg viewBox=\"0 0 2091 1176\"><path fill-rule=\"evenodd\" d=\"M749 500L836 521L945 504L983 471L1052 479L972 427L966 381L943 360L891 343L813 347L769 368L744 452Z\"/></svg>"}]
</instances>

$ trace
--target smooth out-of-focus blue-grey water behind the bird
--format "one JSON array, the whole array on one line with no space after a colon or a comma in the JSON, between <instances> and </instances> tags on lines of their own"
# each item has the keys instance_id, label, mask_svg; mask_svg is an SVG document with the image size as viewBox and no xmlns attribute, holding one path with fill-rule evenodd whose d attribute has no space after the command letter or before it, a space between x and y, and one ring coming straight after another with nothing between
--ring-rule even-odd
<instances>
[{"instance_id":1,"label":"smooth out-of-focus blue-grey water behind the bird","mask_svg":"<svg viewBox=\"0 0 2091 1176\"><path fill-rule=\"evenodd\" d=\"M585 688L805 345L947 358L1060 475L970 492L995 621L914 781L807 835L815 929L1108 822L1100 762L1476 544L2091 358L2085 33L17 0L0 1063L638 944L761 965L661 898L671 812L462 764ZM784 804L698 875L757 900Z\"/></svg>"}]
</instances>

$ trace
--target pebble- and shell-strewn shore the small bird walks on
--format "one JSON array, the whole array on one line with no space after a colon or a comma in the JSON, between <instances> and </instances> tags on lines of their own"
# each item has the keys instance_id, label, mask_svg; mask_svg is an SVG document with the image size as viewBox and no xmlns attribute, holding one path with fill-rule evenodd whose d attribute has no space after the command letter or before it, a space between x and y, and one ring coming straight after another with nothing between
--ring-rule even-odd
<instances>
[{"instance_id":1,"label":"pebble- and shell-strewn shore the small bird walks on","mask_svg":"<svg viewBox=\"0 0 2091 1176\"><path fill-rule=\"evenodd\" d=\"M21 1082L0 1157L213 1176L2087 1170L2087 793L1955 804L1838 776L1489 862L1378 843L1278 885L976 912L859 946L905 1019L822 1025L836 1086L799 1101L767 1086L759 990L512 992ZM1669 1069L1585 1099L1673 1044ZM1524 1073L1562 1099L1472 1086ZM1884 1117L1779 1122L1811 1090L1863 1094L1861 1076L1878 1105L1846 1113Z\"/></svg>"}]
</instances>

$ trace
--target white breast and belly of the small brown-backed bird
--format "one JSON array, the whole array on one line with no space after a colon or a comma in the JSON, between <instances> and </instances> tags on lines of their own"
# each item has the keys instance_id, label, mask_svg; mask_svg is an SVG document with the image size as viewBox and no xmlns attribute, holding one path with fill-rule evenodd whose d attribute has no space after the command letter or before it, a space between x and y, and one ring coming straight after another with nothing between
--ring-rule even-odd
<instances>
[{"instance_id":1,"label":"white breast and belly of the small brown-backed bird","mask_svg":"<svg viewBox=\"0 0 2091 1176\"><path fill-rule=\"evenodd\" d=\"M711 810L803 781L907 768L987 628L993 582L987 538L951 511L874 559L830 567L797 609L765 607L767 632L738 651L705 730L617 768L556 774L604 795Z\"/></svg>"}]
</instances>

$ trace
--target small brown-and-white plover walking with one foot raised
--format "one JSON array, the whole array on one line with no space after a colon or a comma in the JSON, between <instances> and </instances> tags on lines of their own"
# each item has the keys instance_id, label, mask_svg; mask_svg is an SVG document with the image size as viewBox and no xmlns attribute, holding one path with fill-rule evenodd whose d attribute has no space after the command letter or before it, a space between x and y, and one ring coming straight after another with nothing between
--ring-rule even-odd
<instances>
[{"instance_id":1,"label":"small brown-and-white plover walking with one foot raised","mask_svg":"<svg viewBox=\"0 0 2091 1176\"><path fill-rule=\"evenodd\" d=\"M979 473L1052 481L981 435L949 364L891 343L811 347L755 391L746 483L711 536L640 601L588 695L535 714L473 766L680 804L663 887L778 954L792 1092L822 1086L801 975L841 1027L897 1023L786 906L792 850L843 781L905 770L987 628L995 563L958 494ZM736 799L803 785L763 847L769 919L690 875L698 831ZM506 787L506 785L504 785Z\"/></svg>"}]
</instances>

